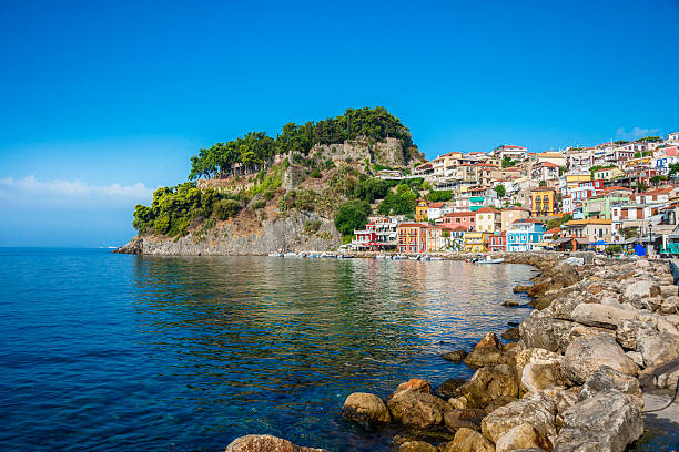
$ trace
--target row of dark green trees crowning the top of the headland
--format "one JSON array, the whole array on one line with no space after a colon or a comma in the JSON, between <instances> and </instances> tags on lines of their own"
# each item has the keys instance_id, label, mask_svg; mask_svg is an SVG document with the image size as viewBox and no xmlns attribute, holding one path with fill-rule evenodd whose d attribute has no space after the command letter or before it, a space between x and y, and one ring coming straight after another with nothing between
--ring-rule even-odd
<instances>
[{"instance_id":1,"label":"row of dark green trees crowning the top of the headland","mask_svg":"<svg viewBox=\"0 0 679 452\"><path fill-rule=\"evenodd\" d=\"M225 177L232 172L252 172L267 166L276 154L296 152L307 155L316 144L343 143L358 136L374 141L394 137L401 141L406 155L417 152L408 129L385 107L348 109L343 115L324 121L287 123L275 140L265 132L250 132L236 140L202 148L191 157L189 178ZM327 162L323 164L328 165Z\"/></svg>"}]
</instances>

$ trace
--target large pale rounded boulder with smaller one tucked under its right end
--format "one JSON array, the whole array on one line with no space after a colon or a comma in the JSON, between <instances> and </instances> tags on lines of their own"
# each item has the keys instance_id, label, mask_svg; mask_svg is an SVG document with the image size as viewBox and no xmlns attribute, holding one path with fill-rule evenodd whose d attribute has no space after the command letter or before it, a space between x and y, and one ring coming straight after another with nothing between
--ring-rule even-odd
<instances>
[{"instance_id":1,"label":"large pale rounded boulder with smaller one tucked under its right end","mask_svg":"<svg viewBox=\"0 0 679 452\"><path fill-rule=\"evenodd\" d=\"M636 376L639 367L609 335L591 335L575 339L564 353L563 370L566 377L584 383L601 366Z\"/></svg>"}]
</instances>

